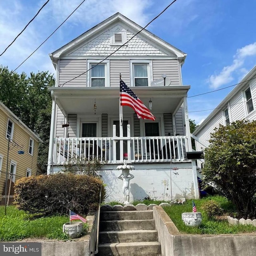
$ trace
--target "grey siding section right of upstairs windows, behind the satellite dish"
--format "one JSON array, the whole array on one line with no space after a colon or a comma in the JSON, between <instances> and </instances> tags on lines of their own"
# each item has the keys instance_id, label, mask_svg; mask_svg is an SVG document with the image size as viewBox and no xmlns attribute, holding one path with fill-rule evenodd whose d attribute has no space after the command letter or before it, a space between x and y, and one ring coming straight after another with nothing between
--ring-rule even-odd
<instances>
[{"instance_id":1,"label":"grey siding section right of upstairs windows, behind the satellite dish","mask_svg":"<svg viewBox=\"0 0 256 256\"><path fill-rule=\"evenodd\" d=\"M181 85L178 60L153 60L153 80L162 78L166 74L171 79L170 85Z\"/></svg>"}]
</instances>

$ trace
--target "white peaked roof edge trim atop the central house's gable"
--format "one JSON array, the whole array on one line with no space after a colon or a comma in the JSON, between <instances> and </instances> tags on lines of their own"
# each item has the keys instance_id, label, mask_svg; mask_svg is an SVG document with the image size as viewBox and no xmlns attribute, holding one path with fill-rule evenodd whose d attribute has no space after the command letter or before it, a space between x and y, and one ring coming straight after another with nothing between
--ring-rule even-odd
<instances>
[{"instance_id":1,"label":"white peaked roof edge trim atop the central house's gable","mask_svg":"<svg viewBox=\"0 0 256 256\"><path fill-rule=\"evenodd\" d=\"M70 52L73 48L77 48L78 46L82 45L86 41L90 40L93 36L96 36L97 34L100 34L104 30L107 30L109 27L114 26L114 24L117 24L118 22L121 22L125 24L126 26L132 28L134 31L139 32L142 30L142 27L133 22L132 20L126 18L119 12L116 14L110 16L106 20L100 22L98 25L94 26L93 28L90 28L86 32L84 32L82 35L78 36L74 40L70 41L68 44L65 44L58 50L52 52L50 55L50 58L52 59L52 62L55 62L60 58L61 55L64 55L67 52ZM149 38L152 42L159 45L160 47L166 49L169 52L172 52L177 56L177 58L180 60L180 63L183 63L186 55L184 52L179 50L178 48L172 46L171 44L165 42L158 36L152 34L148 30L144 29L140 32L140 35L145 36L146 38Z\"/></svg>"}]
</instances>

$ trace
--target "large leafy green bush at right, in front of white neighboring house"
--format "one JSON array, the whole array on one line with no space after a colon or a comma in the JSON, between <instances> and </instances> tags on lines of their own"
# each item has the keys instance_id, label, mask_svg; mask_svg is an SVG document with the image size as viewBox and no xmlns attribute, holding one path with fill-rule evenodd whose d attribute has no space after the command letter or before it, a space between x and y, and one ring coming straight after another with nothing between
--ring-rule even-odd
<instances>
[{"instance_id":1,"label":"large leafy green bush at right, in front of white neighboring house","mask_svg":"<svg viewBox=\"0 0 256 256\"><path fill-rule=\"evenodd\" d=\"M256 121L239 120L214 131L204 150L204 184L232 201L241 217L256 217Z\"/></svg>"}]
</instances>

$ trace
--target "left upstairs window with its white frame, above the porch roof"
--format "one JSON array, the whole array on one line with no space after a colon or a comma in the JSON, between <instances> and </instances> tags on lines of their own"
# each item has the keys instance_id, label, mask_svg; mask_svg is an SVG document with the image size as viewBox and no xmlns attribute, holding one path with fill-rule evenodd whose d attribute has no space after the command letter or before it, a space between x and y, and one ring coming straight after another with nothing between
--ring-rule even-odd
<instances>
[{"instance_id":1,"label":"left upstairs window with its white frame, above the porch roof","mask_svg":"<svg viewBox=\"0 0 256 256\"><path fill-rule=\"evenodd\" d=\"M88 60L90 67L87 86L106 87L109 86L109 60L98 64L100 60Z\"/></svg>"}]
</instances>

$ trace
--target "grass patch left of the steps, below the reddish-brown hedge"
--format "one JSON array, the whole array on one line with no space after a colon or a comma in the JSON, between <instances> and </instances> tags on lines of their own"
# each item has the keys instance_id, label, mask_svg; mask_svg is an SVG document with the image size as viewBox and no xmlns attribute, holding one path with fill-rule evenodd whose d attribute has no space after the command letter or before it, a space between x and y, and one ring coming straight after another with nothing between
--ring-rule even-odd
<instances>
[{"instance_id":1,"label":"grass patch left of the steps, below the reddish-brown hedge","mask_svg":"<svg viewBox=\"0 0 256 256\"><path fill-rule=\"evenodd\" d=\"M48 238L67 240L68 236L62 232L62 225L69 221L68 216L50 216L34 218L18 210L15 206L0 206L0 241L16 241L25 238ZM85 229L87 224L85 224ZM85 232L86 230L84 230Z\"/></svg>"}]
</instances>

